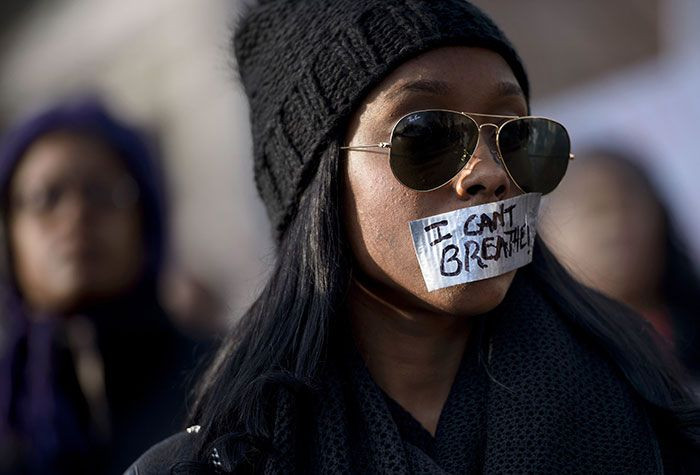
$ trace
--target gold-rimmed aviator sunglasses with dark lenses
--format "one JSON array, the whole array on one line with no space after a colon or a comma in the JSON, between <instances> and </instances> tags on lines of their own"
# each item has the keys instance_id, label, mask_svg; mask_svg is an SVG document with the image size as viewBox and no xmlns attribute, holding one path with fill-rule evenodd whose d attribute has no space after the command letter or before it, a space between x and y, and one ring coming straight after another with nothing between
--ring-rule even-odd
<instances>
[{"instance_id":1,"label":"gold-rimmed aviator sunglasses with dark lenses","mask_svg":"<svg viewBox=\"0 0 700 475\"><path fill-rule=\"evenodd\" d=\"M475 117L505 119L501 125L479 125ZM451 181L466 166L483 127L496 131L496 151L506 173L525 193L546 194L564 178L571 152L569 134L559 122L544 117L414 111L401 117L389 142L350 145L343 150L388 149L396 179L416 191L432 191Z\"/></svg>"}]
</instances>

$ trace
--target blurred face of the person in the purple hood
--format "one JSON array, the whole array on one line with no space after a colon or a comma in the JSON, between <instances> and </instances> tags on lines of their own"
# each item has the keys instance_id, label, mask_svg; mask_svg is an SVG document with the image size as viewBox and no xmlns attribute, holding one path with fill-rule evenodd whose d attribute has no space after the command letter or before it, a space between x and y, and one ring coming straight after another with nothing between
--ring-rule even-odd
<instances>
[{"instance_id":1,"label":"blurred face of the person in the purple hood","mask_svg":"<svg viewBox=\"0 0 700 475\"><path fill-rule=\"evenodd\" d=\"M138 281L144 251L135 200L100 207L84 192L95 183L111 190L124 180L115 152L86 136L51 133L23 156L10 185L9 244L17 284L35 318L80 311ZM57 186L66 191L53 208L28 204Z\"/></svg>"}]
</instances>

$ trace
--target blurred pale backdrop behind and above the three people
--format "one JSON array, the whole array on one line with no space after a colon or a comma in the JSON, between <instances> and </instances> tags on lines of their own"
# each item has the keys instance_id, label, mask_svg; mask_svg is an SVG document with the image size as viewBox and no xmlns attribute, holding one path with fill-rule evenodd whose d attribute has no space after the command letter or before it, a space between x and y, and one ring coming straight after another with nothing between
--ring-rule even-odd
<instances>
[{"instance_id":1,"label":"blurred pale backdrop behind and above the three people","mask_svg":"<svg viewBox=\"0 0 700 475\"><path fill-rule=\"evenodd\" d=\"M259 289L272 251L229 54L242 3L0 3L0 127L47 101L96 91L152 130L173 198L173 258L233 316ZM645 162L697 260L700 2L475 3L523 56L533 111L563 122L574 152L614 143Z\"/></svg>"}]
</instances>

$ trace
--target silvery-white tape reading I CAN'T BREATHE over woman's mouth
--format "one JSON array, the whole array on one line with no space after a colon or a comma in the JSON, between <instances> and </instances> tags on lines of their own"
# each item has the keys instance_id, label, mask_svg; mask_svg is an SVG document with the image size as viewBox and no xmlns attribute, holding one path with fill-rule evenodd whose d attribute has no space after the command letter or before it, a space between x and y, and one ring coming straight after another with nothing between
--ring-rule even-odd
<instances>
[{"instance_id":1,"label":"silvery-white tape reading I CAN'T BREATHE over woman's mouth","mask_svg":"<svg viewBox=\"0 0 700 475\"><path fill-rule=\"evenodd\" d=\"M539 193L462 208L409 223L429 292L488 279L529 264Z\"/></svg>"}]
</instances>

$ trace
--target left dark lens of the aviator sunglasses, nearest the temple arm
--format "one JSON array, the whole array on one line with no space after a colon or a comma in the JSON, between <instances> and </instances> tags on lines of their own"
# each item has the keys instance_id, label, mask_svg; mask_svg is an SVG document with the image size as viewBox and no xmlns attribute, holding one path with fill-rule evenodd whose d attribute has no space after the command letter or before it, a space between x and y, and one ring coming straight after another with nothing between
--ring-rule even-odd
<instances>
[{"instance_id":1,"label":"left dark lens of the aviator sunglasses, nearest the temple arm","mask_svg":"<svg viewBox=\"0 0 700 475\"><path fill-rule=\"evenodd\" d=\"M469 117L449 111L419 111L394 128L389 164L394 176L418 191L450 181L476 147L479 127Z\"/></svg>"}]
</instances>

